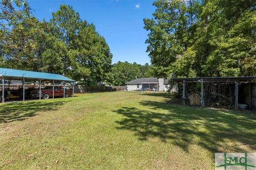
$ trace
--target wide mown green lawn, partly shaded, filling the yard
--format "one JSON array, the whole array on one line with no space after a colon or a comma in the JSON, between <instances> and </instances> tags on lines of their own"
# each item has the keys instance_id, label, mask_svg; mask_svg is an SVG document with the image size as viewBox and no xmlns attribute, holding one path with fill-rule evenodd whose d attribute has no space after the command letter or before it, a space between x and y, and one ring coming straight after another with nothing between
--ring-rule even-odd
<instances>
[{"instance_id":1,"label":"wide mown green lawn, partly shaded, filling the yard","mask_svg":"<svg viewBox=\"0 0 256 170\"><path fill-rule=\"evenodd\" d=\"M214 169L256 152L256 114L102 92L0 104L0 169Z\"/></svg>"}]
</instances>

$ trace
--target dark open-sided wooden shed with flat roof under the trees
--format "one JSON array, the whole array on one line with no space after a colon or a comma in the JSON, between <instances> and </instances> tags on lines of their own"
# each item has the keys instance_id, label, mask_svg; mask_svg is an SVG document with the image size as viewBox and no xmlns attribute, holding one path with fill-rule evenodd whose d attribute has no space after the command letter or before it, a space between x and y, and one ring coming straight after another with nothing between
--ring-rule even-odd
<instances>
[{"instance_id":1,"label":"dark open-sided wooden shed with flat roof under the trees","mask_svg":"<svg viewBox=\"0 0 256 170\"><path fill-rule=\"evenodd\" d=\"M226 100L236 109L239 106L256 109L256 77L173 78L172 81L182 84L179 87L183 105L189 104L189 96L194 93L201 96L201 107Z\"/></svg>"}]
</instances>

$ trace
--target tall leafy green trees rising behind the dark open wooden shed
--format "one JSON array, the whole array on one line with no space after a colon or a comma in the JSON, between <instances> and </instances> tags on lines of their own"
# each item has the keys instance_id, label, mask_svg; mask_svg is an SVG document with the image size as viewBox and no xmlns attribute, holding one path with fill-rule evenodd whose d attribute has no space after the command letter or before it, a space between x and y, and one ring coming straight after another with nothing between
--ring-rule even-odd
<instances>
[{"instance_id":1,"label":"tall leafy green trees rising behind the dark open wooden shed","mask_svg":"<svg viewBox=\"0 0 256 170\"><path fill-rule=\"evenodd\" d=\"M256 1L157 0L144 19L158 77L255 76Z\"/></svg>"}]
</instances>

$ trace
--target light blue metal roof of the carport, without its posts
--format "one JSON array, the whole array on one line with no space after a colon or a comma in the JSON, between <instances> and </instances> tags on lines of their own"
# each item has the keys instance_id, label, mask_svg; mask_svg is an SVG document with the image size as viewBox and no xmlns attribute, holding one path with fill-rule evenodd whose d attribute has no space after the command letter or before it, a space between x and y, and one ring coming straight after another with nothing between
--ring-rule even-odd
<instances>
[{"instance_id":1,"label":"light blue metal roof of the carport, without its posts","mask_svg":"<svg viewBox=\"0 0 256 170\"><path fill-rule=\"evenodd\" d=\"M27 80L58 80L58 81L75 81L64 77L60 74L52 74L52 73L42 73L42 72L34 72L34 71L25 71L25 70L14 70L14 69L4 69L0 68L0 74L5 78L25 78Z\"/></svg>"}]
</instances>

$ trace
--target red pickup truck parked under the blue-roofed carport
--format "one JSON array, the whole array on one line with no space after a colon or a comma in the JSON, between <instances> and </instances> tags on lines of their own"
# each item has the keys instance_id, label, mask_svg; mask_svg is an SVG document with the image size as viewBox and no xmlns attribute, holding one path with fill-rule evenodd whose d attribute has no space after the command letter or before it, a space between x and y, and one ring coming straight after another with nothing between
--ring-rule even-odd
<instances>
[{"instance_id":1,"label":"red pickup truck parked under the blue-roofed carport","mask_svg":"<svg viewBox=\"0 0 256 170\"><path fill-rule=\"evenodd\" d=\"M73 89L66 89L65 88L65 97L69 97L73 94ZM33 90L30 92L32 98L39 98L39 89ZM49 99L53 96L53 91L51 86L46 86L45 88L41 89L41 98L42 99ZM63 97L64 90L62 86L55 86L54 87L54 97Z\"/></svg>"}]
</instances>

